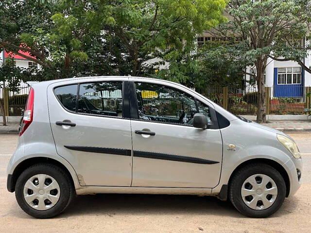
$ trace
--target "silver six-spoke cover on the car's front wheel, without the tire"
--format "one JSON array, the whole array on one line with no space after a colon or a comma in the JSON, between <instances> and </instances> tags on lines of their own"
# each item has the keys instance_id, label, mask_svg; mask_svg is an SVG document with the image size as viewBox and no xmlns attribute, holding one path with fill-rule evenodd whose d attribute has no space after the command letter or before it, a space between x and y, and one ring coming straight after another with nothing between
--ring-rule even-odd
<instances>
[{"instance_id":1,"label":"silver six-spoke cover on the car's front wheel, without the tire","mask_svg":"<svg viewBox=\"0 0 311 233\"><path fill-rule=\"evenodd\" d=\"M241 196L249 208L264 210L275 202L277 186L271 177L264 174L255 174L244 181Z\"/></svg>"}]
</instances>

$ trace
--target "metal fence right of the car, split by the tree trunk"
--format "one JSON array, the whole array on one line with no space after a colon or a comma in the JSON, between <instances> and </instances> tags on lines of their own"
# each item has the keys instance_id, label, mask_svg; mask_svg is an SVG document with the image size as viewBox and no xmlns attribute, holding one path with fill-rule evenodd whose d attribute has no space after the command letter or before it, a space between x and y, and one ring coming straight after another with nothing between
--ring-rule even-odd
<instances>
[{"instance_id":1,"label":"metal fence right of the car, split by the tree trunk","mask_svg":"<svg viewBox=\"0 0 311 233\"><path fill-rule=\"evenodd\" d=\"M282 85L265 87L267 114L305 114L311 108L311 87ZM208 99L235 115L256 115L258 89L256 86L210 87L203 93Z\"/></svg>"}]
</instances>

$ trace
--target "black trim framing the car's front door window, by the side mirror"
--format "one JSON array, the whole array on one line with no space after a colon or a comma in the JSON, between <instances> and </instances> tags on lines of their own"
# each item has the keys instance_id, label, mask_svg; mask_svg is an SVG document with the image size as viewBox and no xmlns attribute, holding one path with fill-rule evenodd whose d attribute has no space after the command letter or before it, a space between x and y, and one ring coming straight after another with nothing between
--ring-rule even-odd
<instances>
[{"instance_id":1,"label":"black trim framing the car's front door window, by the side mirror","mask_svg":"<svg viewBox=\"0 0 311 233\"><path fill-rule=\"evenodd\" d=\"M132 96L131 98L135 98L135 108L136 108L136 113L137 113L137 117L133 117L132 115L132 111L131 111L131 120L138 120L138 121L144 121L144 122L153 122L153 123L158 123L158 124L169 124L169 125L179 125L179 126L186 126L186 127L192 127L192 128L195 128L193 127L193 125L188 125L188 124L178 124L178 123L171 123L171 122L162 122L162 121L155 121L155 120L144 120L144 119L139 119L139 116L138 116L138 100L137 100L137 95L136 95L136 86L135 86L135 83L149 83L149 84L154 84L154 85L162 85L162 86L165 86L167 88L171 88L173 90L176 90L176 91L179 91L179 92L182 92L184 94L186 94L187 96L191 97L194 99L194 102L195 102L195 107L196 109L198 109L198 105L197 105L197 101L203 103L202 101L200 100L197 100L196 97L190 95L189 93L187 92L184 92L176 87L173 87L173 86L170 86L170 85L166 85L166 84L158 84L158 83L150 83L148 81L129 81L130 83L133 83L132 84L132 88L133 88L133 93L132 93ZM133 96L134 95L134 96ZM212 125L209 125L209 127L207 128L207 130L217 130L219 129L219 125L218 125L218 119L217 119L217 116L216 116L216 111L214 108L211 108L209 104L206 104L206 103L203 103L205 105L208 106L209 108L209 111L210 111L210 117L211 117L211 120L213 122Z\"/></svg>"}]
</instances>

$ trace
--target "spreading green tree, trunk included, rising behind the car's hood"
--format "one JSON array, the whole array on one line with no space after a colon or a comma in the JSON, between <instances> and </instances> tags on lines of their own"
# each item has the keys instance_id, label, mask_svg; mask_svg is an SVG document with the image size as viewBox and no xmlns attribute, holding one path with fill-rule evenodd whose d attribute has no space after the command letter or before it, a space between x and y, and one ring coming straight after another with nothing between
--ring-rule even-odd
<instances>
[{"instance_id":1,"label":"spreading green tree, trunk included, rising behind the car's hood","mask_svg":"<svg viewBox=\"0 0 311 233\"><path fill-rule=\"evenodd\" d=\"M301 64L306 55L305 48L296 47L288 35L310 36L311 4L305 0L231 0L225 11L229 20L212 32L224 43L211 43L207 57L202 55L203 74L214 69L214 75L223 79L232 70L238 77L239 73L247 73L246 67L255 67L260 99L264 100L265 90L261 87L268 58L283 56ZM258 101L258 110L257 121L264 121L262 101Z\"/></svg>"}]
</instances>

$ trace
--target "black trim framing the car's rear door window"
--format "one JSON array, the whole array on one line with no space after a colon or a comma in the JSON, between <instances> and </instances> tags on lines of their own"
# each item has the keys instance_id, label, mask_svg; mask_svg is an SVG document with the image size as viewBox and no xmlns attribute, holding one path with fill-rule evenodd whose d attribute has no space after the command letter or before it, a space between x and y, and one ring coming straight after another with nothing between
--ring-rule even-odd
<instances>
[{"instance_id":1,"label":"black trim framing the car's rear door window","mask_svg":"<svg viewBox=\"0 0 311 233\"><path fill-rule=\"evenodd\" d=\"M104 83L104 82L112 82L112 83L116 83L116 82L120 82L122 83L122 117L118 117L118 116L106 116L106 115L98 115L98 114L89 114L89 113L78 113L77 112L77 104L78 104L78 100L79 100L79 94L80 94L80 84L83 83ZM129 101L124 101L125 99L129 99L129 85L126 85L126 83L129 83L129 81L85 81L85 82L79 82L79 83L69 83L69 84L63 84L63 85L58 85L58 86L54 86L53 87L53 94L54 97L56 98L56 100L59 102L59 104L62 106L62 108L69 112L69 113L73 113L73 114L77 114L77 115L84 115L84 116L99 116L99 117L107 117L107 118L116 118L116 119L130 119L130 114L129 114ZM58 87L62 87L62 86L70 86L70 85L77 85L77 96L76 96L76 111L71 111L69 109L67 109L63 103L58 99L56 93L55 93L55 89ZM127 86L127 88L125 88L125 86ZM127 97L125 96L125 93L127 94ZM125 112L124 112L125 110ZM128 117L124 117L124 116L128 116Z\"/></svg>"}]
</instances>

